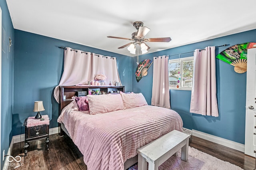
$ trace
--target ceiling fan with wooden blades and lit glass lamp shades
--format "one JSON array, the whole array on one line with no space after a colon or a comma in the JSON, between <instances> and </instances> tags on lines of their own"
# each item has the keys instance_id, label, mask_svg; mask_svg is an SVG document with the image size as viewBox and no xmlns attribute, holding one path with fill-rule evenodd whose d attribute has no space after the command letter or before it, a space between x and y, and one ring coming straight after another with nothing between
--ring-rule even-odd
<instances>
[{"instance_id":1,"label":"ceiling fan with wooden blades and lit glass lamp shades","mask_svg":"<svg viewBox=\"0 0 256 170\"><path fill-rule=\"evenodd\" d=\"M132 33L132 38L122 38L122 37L113 37L113 36L107 36L107 37L133 41L133 42L127 43L121 47L118 47L118 49L120 49L120 48L129 46L128 50L132 54L136 54L135 52L136 52L137 45L140 45L142 54L148 52L147 50L150 49L150 47L148 45L146 45L145 42L170 42L172 40L170 37L145 38L146 34L148 34L150 29L147 27L144 27L143 22L141 22L141 21L134 22L133 26L136 28L137 32Z\"/></svg>"}]
</instances>

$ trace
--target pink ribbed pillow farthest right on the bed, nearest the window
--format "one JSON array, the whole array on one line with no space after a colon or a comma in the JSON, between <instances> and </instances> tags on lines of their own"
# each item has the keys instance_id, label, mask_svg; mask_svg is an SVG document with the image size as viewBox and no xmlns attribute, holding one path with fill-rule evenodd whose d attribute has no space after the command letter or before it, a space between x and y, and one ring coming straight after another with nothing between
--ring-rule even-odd
<instances>
[{"instance_id":1,"label":"pink ribbed pillow farthest right on the bed, nearest the window","mask_svg":"<svg viewBox=\"0 0 256 170\"><path fill-rule=\"evenodd\" d=\"M125 109L148 105L142 93L121 93Z\"/></svg>"}]
</instances>

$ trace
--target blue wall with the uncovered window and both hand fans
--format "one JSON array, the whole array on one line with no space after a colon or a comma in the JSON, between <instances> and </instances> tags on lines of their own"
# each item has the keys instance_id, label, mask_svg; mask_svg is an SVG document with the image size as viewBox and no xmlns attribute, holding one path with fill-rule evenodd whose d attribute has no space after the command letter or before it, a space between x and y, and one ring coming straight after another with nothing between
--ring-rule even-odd
<instances>
[{"instance_id":1,"label":"blue wall with the uncovered window and both hand fans","mask_svg":"<svg viewBox=\"0 0 256 170\"><path fill-rule=\"evenodd\" d=\"M230 36L216 38L204 42L184 45L173 49L159 51L142 55L139 61L151 59L161 55L174 55L186 53L195 49L204 49L206 46L229 44L228 47L245 42L256 42L256 30L242 32ZM150 43L148 43L150 46ZM216 48L216 55L228 47ZM193 53L183 54L180 57L190 57ZM178 55L169 57L178 58ZM148 75L138 83L135 78L136 59L133 59L132 90L136 93L142 92L148 102L152 97L152 75L153 65L148 70ZM184 127L199 130L214 136L219 136L244 144L245 134L245 104L246 104L246 73L234 72L234 67L220 59L216 59L216 83L219 117L209 117L192 114L190 110L191 91L170 90L171 107L182 117Z\"/></svg>"}]
</instances>

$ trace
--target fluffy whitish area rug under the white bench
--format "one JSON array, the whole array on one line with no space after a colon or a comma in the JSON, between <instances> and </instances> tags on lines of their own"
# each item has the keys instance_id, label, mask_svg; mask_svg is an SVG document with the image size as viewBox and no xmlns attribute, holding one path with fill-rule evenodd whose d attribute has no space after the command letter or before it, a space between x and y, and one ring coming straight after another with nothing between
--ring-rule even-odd
<instances>
[{"instance_id":1,"label":"fluffy whitish area rug under the white bench","mask_svg":"<svg viewBox=\"0 0 256 170\"><path fill-rule=\"evenodd\" d=\"M188 161L185 162L178 156L172 156L159 166L159 170L242 170L239 166L225 162L214 156L201 152L195 148L188 148ZM137 170L137 165L129 170Z\"/></svg>"}]
</instances>

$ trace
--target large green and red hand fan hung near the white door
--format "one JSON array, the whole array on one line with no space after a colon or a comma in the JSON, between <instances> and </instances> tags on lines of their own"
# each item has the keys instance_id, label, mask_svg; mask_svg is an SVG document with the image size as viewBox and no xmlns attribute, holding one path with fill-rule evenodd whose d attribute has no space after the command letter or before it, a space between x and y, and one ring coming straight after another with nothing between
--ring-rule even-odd
<instances>
[{"instance_id":1,"label":"large green and red hand fan hung near the white door","mask_svg":"<svg viewBox=\"0 0 256 170\"><path fill-rule=\"evenodd\" d=\"M256 43L254 42L236 44L219 53L216 58L233 65L236 73L245 73L247 70L247 49L255 47Z\"/></svg>"}]
</instances>

